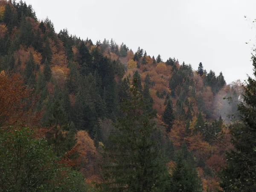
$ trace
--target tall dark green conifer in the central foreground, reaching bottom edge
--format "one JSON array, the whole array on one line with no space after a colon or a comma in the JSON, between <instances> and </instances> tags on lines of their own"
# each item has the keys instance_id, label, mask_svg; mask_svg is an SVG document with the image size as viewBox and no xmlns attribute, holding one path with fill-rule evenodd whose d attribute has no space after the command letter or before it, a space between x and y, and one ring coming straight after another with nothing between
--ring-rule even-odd
<instances>
[{"instance_id":1,"label":"tall dark green conifer in the central foreground, reaching bottom edge","mask_svg":"<svg viewBox=\"0 0 256 192\"><path fill-rule=\"evenodd\" d=\"M134 79L131 99L122 104L124 116L118 118L116 129L105 149L107 165L103 166L106 181L102 191L164 191L166 168L151 140L154 125L148 113L142 113L144 102Z\"/></svg>"}]
</instances>

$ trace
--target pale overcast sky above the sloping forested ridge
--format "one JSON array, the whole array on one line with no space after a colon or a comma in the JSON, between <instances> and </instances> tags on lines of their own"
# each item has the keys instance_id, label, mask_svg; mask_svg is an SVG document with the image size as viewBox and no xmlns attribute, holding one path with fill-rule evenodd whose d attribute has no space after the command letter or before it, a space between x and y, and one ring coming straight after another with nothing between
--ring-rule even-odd
<instances>
[{"instance_id":1,"label":"pale overcast sky above the sloping forested ridge","mask_svg":"<svg viewBox=\"0 0 256 192\"><path fill-rule=\"evenodd\" d=\"M227 83L252 76L250 61L255 44L256 0L26 0L38 19L47 16L55 31L95 44L113 38L134 51L175 57L180 64L199 62ZM250 20L244 18L247 16ZM251 41L250 41L251 40ZM249 42L246 44L246 42Z\"/></svg>"}]
</instances>

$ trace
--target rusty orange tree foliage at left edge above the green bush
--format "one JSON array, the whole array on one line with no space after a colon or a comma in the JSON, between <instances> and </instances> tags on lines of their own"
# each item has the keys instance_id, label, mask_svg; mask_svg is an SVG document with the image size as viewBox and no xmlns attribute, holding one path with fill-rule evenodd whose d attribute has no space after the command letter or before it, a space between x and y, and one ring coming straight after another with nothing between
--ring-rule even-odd
<instances>
[{"instance_id":1,"label":"rusty orange tree foliage at left edge above the green bush","mask_svg":"<svg viewBox=\"0 0 256 192\"><path fill-rule=\"evenodd\" d=\"M37 125L41 111L33 113L36 98L23 84L20 75L8 75L2 71L0 90L0 127Z\"/></svg>"}]
</instances>

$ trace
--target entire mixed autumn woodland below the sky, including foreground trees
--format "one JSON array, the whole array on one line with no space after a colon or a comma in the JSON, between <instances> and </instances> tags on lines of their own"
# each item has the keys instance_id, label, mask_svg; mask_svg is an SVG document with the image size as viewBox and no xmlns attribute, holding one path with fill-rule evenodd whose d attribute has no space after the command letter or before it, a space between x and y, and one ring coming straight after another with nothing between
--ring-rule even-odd
<instances>
[{"instance_id":1,"label":"entire mixed autumn woodland below the sky, including foreground trees","mask_svg":"<svg viewBox=\"0 0 256 192\"><path fill-rule=\"evenodd\" d=\"M0 191L254 192L255 93L0 0Z\"/></svg>"}]
</instances>

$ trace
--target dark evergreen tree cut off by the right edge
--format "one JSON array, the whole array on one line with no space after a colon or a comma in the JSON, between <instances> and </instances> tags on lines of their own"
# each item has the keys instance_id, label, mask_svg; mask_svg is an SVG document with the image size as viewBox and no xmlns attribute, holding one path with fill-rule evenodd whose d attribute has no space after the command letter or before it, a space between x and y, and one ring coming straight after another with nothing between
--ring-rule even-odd
<instances>
[{"instance_id":1,"label":"dark evergreen tree cut off by the right edge","mask_svg":"<svg viewBox=\"0 0 256 192\"><path fill-rule=\"evenodd\" d=\"M253 55L256 77L256 57ZM222 174L222 187L227 192L253 192L256 189L256 79L248 77L243 101L238 105L241 122L230 128L234 151L227 153L227 167Z\"/></svg>"}]
</instances>

